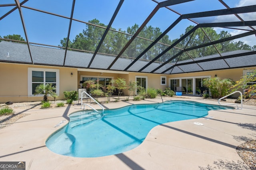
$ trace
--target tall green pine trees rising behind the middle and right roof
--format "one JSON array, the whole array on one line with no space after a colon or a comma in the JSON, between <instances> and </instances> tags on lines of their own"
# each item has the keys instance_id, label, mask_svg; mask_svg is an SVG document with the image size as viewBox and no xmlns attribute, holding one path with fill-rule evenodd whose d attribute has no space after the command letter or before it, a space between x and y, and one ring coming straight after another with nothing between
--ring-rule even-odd
<instances>
[{"instance_id":1,"label":"tall green pine trees rising behind the middle and right roof","mask_svg":"<svg viewBox=\"0 0 256 170\"><path fill-rule=\"evenodd\" d=\"M99 20L94 19L88 21L90 24L86 25L86 28L76 35L75 39L72 41L69 40L68 47L72 49L80 49L85 51L95 51L102 35L105 31L102 27L107 27L103 23L100 23ZM95 26L98 25L98 26ZM194 26L190 25L186 28L184 34L190 31ZM126 45L126 43L130 40L132 35L138 30L139 25L134 24L132 27L128 27L126 31L122 31L119 29L118 31L111 27L112 30L108 31L100 49L98 52L118 55L121 49ZM142 53L157 37L162 34L160 28L152 27L152 26L145 26L142 31L139 33L138 37L134 39L134 41L129 45L129 47L122 53L124 57L138 57L140 53ZM184 34L180 35L180 37L184 36ZM204 43L209 43L211 41L216 41L218 39L223 39L226 37L230 37L231 34L228 31L221 31L219 34L212 28L198 28L194 33L191 33L188 37L186 37L183 41L178 43L174 48L169 50L167 53L162 55L157 61L165 62L166 60L170 59L177 53L179 53L182 49L195 47L198 45L202 45ZM139 38L140 37L140 38ZM168 35L164 35L158 43L156 43L150 50L148 50L141 59L152 60L156 56L158 56L162 51L172 45L178 39L171 40ZM66 47L67 39L64 38L60 41L60 47ZM242 41L226 41L223 43L219 43L216 45L211 45L207 47L202 47L198 49L194 49L183 53L179 58L173 59L172 62L176 62L177 60L187 60L197 57L203 57L207 55L217 54L218 51L220 53L224 53L227 51L234 51L234 50L255 50L256 45L251 47L245 44ZM217 51L218 50L218 51Z\"/></svg>"}]
</instances>

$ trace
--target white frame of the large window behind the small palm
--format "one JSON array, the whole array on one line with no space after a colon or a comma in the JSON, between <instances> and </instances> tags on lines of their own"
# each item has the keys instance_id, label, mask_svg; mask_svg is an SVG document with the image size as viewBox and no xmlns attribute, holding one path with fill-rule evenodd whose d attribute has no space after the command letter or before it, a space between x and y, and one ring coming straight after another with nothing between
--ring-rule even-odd
<instances>
[{"instance_id":1,"label":"white frame of the large window behind the small palm","mask_svg":"<svg viewBox=\"0 0 256 170\"><path fill-rule=\"evenodd\" d=\"M50 68L28 68L28 96L34 97L34 96L43 96L43 95L34 95L32 94L32 71L43 71L44 75L45 72L56 72L56 93L57 96L60 96L60 70L59 69L50 69ZM45 77L44 77L44 84L45 82Z\"/></svg>"}]
</instances>

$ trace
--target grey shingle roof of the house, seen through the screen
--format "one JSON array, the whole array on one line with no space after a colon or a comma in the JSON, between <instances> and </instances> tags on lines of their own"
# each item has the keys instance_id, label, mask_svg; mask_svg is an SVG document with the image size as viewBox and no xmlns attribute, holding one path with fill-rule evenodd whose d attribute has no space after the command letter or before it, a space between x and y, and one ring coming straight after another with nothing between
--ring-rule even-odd
<instances>
[{"instance_id":1,"label":"grey shingle roof of the house, seen through the screen","mask_svg":"<svg viewBox=\"0 0 256 170\"><path fill-rule=\"evenodd\" d=\"M30 54L26 44L13 43L8 41L0 42L0 61L11 63L28 63L32 64ZM54 49L30 45L32 58L35 64L62 66L64 63L63 49ZM159 69L155 70L156 74L176 74L184 72L198 72L206 70L218 70L228 68L239 68L247 66L256 66L256 54L251 54L253 51L237 50L222 53L220 55L210 55L177 63L168 63ZM9 54L9 56L8 56ZM67 51L67 57L64 66L75 68L86 68L92 58L92 53ZM109 64L115 59L110 55L97 54L96 59L92 63L92 68L106 69ZM215 60L216 59L216 60ZM132 62L132 59L120 58L113 65L114 70L123 70ZM137 72L139 68L148 64L149 61L137 61L127 71ZM154 62L146 67L142 72L152 72L160 66L161 63ZM172 67L170 69L170 67Z\"/></svg>"}]
</instances>

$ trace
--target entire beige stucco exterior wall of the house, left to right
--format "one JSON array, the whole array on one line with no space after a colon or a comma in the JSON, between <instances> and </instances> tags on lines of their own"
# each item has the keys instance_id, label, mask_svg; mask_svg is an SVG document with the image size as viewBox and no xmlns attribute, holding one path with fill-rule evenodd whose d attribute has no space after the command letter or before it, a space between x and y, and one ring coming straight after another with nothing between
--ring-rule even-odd
<instances>
[{"instance_id":1,"label":"entire beige stucco exterior wall of the house, left to right","mask_svg":"<svg viewBox=\"0 0 256 170\"><path fill-rule=\"evenodd\" d=\"M28 68L42 68L42 69L57 69L59 70L59 96L58 100L65 99L64 91L78 90L80 88L81 76L93 77L111 77L124 78L126 84L129 81L136 81L136 76L147 78L147 87L162 89L170 87L170 79L172 78L188 78L196 76L210 76L215 75L223 78L230 78L234 81L240 80L243 76L243 70L252 70L256 67L250 68L234 68L227 70L213 70L204 72L192 72L183 74L150 74L138 72L121 72L110 70L92 70L92 69L78 69L60 66L42 66L32 64L13 64L13 63L0 63L0 103L5 102L33 102L41 101L42 96L29 96L28 95ZM72 75L71 75L72 73ZM161 76L166 76L166 85L161 85ZM124 95L128 95L128 89L124 90ZM133 95L133 94L131 94ZM53 100L53 98L49 98Z\"/></svg>"}]
</instances>

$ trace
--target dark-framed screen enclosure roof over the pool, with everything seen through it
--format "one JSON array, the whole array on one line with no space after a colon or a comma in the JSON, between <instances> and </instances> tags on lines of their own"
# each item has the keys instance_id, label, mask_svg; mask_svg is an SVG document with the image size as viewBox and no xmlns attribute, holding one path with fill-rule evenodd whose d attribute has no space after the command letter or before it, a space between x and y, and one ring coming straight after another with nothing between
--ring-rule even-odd
<instances>
[{"instance_id":1,"label":"dark-framed screen enclosure roof over the pool, with everything seen through it","mask_svg":"<svg viewBox=\"0 0 256 170\"><path fill-rule=\"evenodd\" d=\"M1 62L156 74L256 66L255 0L1 0L0 25Z\"/></svg>"}]
</instances>

